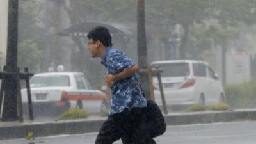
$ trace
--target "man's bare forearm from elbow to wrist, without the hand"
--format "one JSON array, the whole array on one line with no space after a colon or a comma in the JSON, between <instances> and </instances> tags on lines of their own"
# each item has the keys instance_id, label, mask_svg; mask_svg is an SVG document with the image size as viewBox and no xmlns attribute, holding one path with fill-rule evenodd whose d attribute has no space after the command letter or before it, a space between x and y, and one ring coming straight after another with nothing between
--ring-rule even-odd
<instances>
[{"instance_id":1,"label":"man's bare forearm from elbow to wrist, without the hand","mask_svg":"<svg viewBox=\"0 0 256 144\"><path fill-rule=\"evenodd\" d=\"M138 72L140 67L138 65L133 65L131 68L125 69L122 72L119 72L118 74L115 74L113 77L113 81L116 82L120 79L125 79L127 77L132 76L135 72Z\"/></svg>"}]
</instances>

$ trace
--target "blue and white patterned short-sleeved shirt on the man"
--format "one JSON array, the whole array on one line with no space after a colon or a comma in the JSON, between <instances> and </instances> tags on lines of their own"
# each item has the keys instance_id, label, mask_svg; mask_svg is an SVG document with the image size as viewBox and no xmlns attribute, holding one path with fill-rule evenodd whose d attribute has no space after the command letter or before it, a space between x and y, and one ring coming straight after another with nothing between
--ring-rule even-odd
<instances>
[{"instance_id":1,"label":"blue and white patterned short-sleeved shirt on the man","mask_svg":"<svg viewBox=\"0 0 256 144\"><path fill-rule=\"evenodd\" d=\"M127 68L135 65L134 61L126 56L124 52L108 47L102 56L102 65L107 69L107 74L118 74ZM109 115L122 112L125 108L146 107L147 100L143 97L139 74L116 81L111 87L111 109Z\"/></svg>"}]
</instances>

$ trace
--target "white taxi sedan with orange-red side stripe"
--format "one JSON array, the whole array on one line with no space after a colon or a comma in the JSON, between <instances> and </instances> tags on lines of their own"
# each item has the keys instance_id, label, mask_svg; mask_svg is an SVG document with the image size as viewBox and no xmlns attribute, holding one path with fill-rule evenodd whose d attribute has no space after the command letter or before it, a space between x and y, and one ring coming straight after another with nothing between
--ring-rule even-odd
<instances>
[{"instance_id":1,"label":"white taxi sedan with orange-red side stripe","mask_svg":"<svg viewBox=\"0 0 256 144\"><path fill-rule=\"evenodd\" d=\"M48 72L31 77L31 99L36 113L54 113L69 108L99 113L107 108L107 96L95 90L80 72ZM22 89L22 102L28 104L27 90ZM26 110L26 109L25 109Z\"/></svg>"}]
</instances>

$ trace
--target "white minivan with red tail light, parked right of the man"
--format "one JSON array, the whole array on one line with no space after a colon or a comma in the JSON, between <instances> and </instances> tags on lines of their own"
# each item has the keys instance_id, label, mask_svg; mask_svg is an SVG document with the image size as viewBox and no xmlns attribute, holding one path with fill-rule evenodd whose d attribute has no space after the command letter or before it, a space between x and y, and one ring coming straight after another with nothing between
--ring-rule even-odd
<instances>
[{"instance_id":1,"label":"white minivan with red tail light, parked right of the man","mask_svg":"<svg viewBox=\"0 0 256 144\"><path fill-rule=\"evenodd\" d=\"M163 69L166 105L217 104L225 102L225 93L218 75L204 61L169 60L154 61L152 68ZM154 97L162 105L157 77L153 78Z\"/></svg>"}]
</instances>

